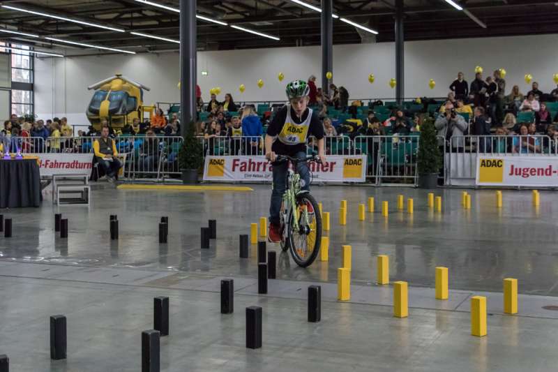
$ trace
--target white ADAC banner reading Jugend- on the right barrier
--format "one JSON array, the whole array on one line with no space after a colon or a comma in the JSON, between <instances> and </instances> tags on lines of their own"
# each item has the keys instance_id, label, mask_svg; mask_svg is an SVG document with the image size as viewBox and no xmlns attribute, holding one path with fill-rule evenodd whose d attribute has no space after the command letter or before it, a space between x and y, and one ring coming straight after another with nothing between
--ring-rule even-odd
<instances>
[{"instance_id":1,"label":"white ADAC banner reading Jugend- on the right barrier","mask_svg":"<svg viewBox=\"0 0 558 372\"><path fill-rule=\"evenodd\" d=\"M558 186L557 156L478 155L479 186Z\"/></svg>"}]
</instances>

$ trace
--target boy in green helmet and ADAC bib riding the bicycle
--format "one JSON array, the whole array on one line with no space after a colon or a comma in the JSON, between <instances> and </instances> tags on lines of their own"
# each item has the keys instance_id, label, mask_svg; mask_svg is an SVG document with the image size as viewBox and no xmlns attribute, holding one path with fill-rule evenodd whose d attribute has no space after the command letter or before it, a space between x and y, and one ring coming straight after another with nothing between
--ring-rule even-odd
<instances>
[{"instance_id":1,"label":"boy in green helmet and ADAC bib riding the bicycle","mask_svg":"<svg viewBox=\"0 0 558 372\"><path fill-rule=\"evenodd\" d=\"M280 209L282 195L285 193L288 163L274 163L278 155L292 158L306 158L306 140L313 135L317 139L318 158L322 163L324 157L324 126L317 113L308 108L310 87L303 80L294 80L287 84L289 103L282 107L267 129L265 149L266 158L273 164L273 191L269 207L269 234L272 243L281 240ZM296 164L296 171L302 179L302 189L310 190L310 172L308 164L301 161Z\"/></svg>"}]
</instances>

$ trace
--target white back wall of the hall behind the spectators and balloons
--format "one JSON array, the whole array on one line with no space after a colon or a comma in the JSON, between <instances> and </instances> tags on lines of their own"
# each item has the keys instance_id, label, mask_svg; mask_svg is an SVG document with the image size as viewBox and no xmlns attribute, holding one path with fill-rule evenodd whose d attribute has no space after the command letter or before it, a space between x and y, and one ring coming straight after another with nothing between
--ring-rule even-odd
<instances>
[{"instance_id":1,"label":"white back wall of the hall behind the spectators and balloons","mask_svg":"<svg viewBox=\"0 0 558 372\"><path fill-rule=\"evenodd\" d=\"M558 73L558 49L552 45L556 45L556 35L405 43L405 96L445 96L459 70L471 82L477 65L483 66L485 75L505 68L506 91L518 84L526 93L530 88L523 76L530 73L541 90L548 92L555 88L552 74ZM320 68L319 47L199 52L197 80L205 101L212 87L221 88L220 99L230 92L236 101L277 101L284 98L287 81L319 76ZM209 75L202 76L202 70ZM285 74L283 82L277 79L280 72ZM86 124L84 112L92 96L86 87L114 73L150 87L146 103L179 101L176 53L71 57L36 62L35 111L42 118L66 116L73 124ZM374 84L368 82L369 73L375 74ZM393 43L333 47L333 82L347 87L352 98L393 98L395 89L388 85L391 77L395 77ZM256 85L260 78L262 89ZM432 90L430 78L437 82ZM240 84L246 85L243 94Z\"/></svg>"}]
</instances>

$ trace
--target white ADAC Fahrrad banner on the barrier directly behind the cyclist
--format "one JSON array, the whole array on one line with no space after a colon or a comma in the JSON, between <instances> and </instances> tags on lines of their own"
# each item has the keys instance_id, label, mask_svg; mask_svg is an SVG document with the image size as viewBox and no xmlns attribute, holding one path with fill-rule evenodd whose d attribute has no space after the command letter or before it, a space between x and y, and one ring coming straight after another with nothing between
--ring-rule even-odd
<instances>
[{"instance_id":1,"label":"white ADAC Fahrrad banner on the barrier directly behind the cyclist","mask_svg":"<svg viewBox=\"0 0 558 372\"><path fill-rule=\"evenodd\" d=\"M204 181L271 182L271 163L265 156L206 156ZM365 155L330 155L326 163L310 162L308 168L316 182L364 182Z\"/></svg>"}]
</instances>

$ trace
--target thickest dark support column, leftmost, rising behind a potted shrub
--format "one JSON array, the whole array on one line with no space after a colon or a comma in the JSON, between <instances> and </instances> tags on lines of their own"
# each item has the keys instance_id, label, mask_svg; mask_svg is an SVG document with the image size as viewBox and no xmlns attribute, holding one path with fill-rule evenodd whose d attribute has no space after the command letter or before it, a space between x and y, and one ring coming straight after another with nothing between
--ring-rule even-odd
<instances>
[{"instance_id":1,"label":"thickest dark support column, leftmost, rising behind a potted shrub","mask_svg":"<svg viewBox=\"0 0 558 372\"><path fill-rule=\"evenodd\" d=\"M196 120L196 0L180 0L180 10L180 123L184 137L190 121Z\"/></svg>"}]
</instances>

